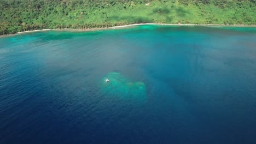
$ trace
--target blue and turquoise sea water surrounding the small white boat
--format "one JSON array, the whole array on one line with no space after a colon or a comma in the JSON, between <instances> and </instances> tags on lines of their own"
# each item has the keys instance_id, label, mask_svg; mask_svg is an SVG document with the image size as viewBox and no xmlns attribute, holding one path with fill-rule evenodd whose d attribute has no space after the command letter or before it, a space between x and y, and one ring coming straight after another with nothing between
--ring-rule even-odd
<instances>
[{"instance_id":1,"label":"blue and turquoise sea water surrounding the small white boat","mask_svg":"<svg viewBox=\"0 0 256 144\"><path fill-rule=\"evenodd\" d=\"M0 143L255 143L255 132L256 28L0 38Z\"/></svg>"}]
</instances>

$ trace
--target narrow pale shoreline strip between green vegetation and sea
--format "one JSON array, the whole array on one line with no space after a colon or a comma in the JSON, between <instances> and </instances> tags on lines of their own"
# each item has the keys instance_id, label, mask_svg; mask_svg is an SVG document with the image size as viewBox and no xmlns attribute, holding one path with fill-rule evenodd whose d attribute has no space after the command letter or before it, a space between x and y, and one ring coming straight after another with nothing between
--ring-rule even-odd
<instances>
[{"instance_id":1,"label":"narrow pale shoreline strip between green vegetation and sea","mask_svg":"<svg viewBox=\"0 0 256 144\"><path fill-rule=\"evenodd\" d=\"M104 29L115 29L115 28L127 28L131 26L141 26L141 25L162 25L162 26L224 26L224 27L256 27L256 25L224 25L224 24L173 24L173 23L135 23L131 25L123 25L123 26L113 26L113 27L104 27L104 28L53 28L53 29L36 29L32 31L24 31L24 32L18 32L15 34L5 34L0 35L1 37L11 36L11 35L17 35L22 33L33 33L33 32L41 32L41 31L78 31L78 32L86 32L86 31L100 31Z\"/></svg>"}]
</instances>

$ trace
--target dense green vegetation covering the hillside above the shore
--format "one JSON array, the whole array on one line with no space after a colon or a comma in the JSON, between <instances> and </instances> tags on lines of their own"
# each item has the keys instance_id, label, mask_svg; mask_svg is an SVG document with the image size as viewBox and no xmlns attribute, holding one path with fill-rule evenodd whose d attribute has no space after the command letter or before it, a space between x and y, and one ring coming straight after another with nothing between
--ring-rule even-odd
<instances>
[{"instance_id":1,"label":"dense green vegetation covering the hillside above the shore","mask_svg":"<svg viewBox=\"0 0 256 144\"><path fill-rule=\"evenodd\" d=\"M256 0L0 0L0 34L147 22L255 25Z\"/></svg>"}]
</instances>

